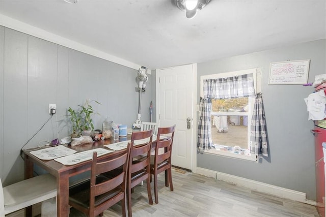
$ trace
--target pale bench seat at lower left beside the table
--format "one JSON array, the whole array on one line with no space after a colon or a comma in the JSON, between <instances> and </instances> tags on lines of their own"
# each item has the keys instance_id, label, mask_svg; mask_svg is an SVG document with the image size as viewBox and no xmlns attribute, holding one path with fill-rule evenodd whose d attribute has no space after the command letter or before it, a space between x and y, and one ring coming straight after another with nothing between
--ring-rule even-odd
<instances>
[{"instance_id":1,"label":"pale bench seat at lower left beside the table","mask_svg":"<svg viewBox=\"0 0 326 217\"><path fill-rule=\"evenodd\" d=\"M57 196L57 179L51 174L35 176L2 187L0 179L0 216Z\"/></svg>"}]
</instances>

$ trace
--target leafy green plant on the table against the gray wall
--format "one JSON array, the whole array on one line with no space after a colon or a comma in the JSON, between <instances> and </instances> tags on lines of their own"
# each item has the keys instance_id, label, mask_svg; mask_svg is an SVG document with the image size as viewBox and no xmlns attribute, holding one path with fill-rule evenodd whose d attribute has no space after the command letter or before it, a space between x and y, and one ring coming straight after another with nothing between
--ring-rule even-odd
<instances>
[{"instance_id":1,"label":"leafy green plant on the table against the gray wall","mask_svg":"<svg viewBox=\"0 0 326 217\"><path fill-rule=\"evenodd\" d=\"M93 114L98 114L97 112L94 113L93 107L90 105L91 102L96 102L97 104L101 104L95 100L90 101L89 99L83 105L78 105L79 110L74 110L69 107L68 117L71 121L72 125L72 135L79 136L82 134L83 131L92 131L94 130L92 116Z\"/></svg>"}]
</instances>

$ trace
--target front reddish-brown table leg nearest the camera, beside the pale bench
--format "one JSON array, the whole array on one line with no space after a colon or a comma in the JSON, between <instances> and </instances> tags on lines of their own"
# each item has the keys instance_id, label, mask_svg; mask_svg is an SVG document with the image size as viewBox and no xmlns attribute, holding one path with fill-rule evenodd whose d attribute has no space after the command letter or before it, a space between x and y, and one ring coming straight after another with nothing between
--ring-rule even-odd
<instances>
[{"instance_id":1,"label":"front reddish-brown table leg nearest the camera, beside the pale bench","mask_svg":"<svg viewBox=\"0 0 326 217\"><path fill-rule=\"evenodd\" d=\"M57 175L57 216L69 216L69 173Z\"/></svg>"}]
</instances>

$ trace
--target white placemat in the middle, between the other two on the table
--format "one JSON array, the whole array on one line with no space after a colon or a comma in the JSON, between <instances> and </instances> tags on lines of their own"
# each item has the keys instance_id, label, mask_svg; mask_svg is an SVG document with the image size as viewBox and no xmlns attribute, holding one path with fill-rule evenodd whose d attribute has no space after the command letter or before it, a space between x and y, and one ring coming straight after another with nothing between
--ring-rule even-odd
<instances>
[{"instance_id":1,"label":"white placemat in the middle, between the other two on the table","mask_svg":"<svg viewBox=\"0 0 326 217\"><path fill-rule=\"evenodd\" d=\"M83 152L78 152L78 153L74 153L71 154L69 156L65 156L62 158L57 158L55 159L55 161L63 164L63 165L74 165L74 164L78 164L80 162L84 162L84 161L88 161L91 160L93 158L93 152L96 151L97 152L97 157L102 156L103 154L107 154L110 152L113 152L114 150L107 150L104 148L95 148L92 150L87 150L87 151L83 151Z\"/></svg>"}]
</instances>

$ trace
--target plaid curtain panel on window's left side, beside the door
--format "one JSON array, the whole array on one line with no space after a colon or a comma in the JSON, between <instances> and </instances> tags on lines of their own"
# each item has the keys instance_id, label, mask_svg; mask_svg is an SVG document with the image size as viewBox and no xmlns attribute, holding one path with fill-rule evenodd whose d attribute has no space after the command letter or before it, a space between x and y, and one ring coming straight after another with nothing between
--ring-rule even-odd
<instances>
[{"instance_id":1,"label":"plaid curtain panel on window's left side, beside the door","mask_svg":"<svg viewBox=\"0 0 326 217\"><path fill-rule=\"evenodd\" d=\"M210 125L210 110L212 107L211 99L200 98L199 103L199 122L198 122L198 140L197 149L202 151L206 148L210 149L213 146L211 125Z\"/></svg>"}]
</instances>

